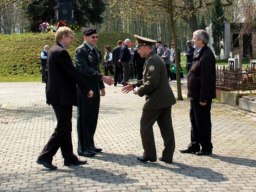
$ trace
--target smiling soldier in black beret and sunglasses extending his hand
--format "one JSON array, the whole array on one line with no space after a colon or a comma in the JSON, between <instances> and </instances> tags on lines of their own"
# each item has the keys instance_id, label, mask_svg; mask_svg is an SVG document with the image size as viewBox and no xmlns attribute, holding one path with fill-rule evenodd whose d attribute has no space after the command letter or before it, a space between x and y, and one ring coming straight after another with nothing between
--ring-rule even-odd
<instances>
[{"instance_id":1,"label":"smiling soldier in black beret and sunglasses extending his hand","mask_svg":"<svg viewBox=\"0 0 256 192\"><path fill-rule=\"evenodd\" d=\"M100 96L105 96L103 82L112 85L114 81L112 77L100 73L100 56L98 49L94 47L98 41L97 28L85 28L83 34L84 43L76 49L74 60L76 68L80 70L94 94L92 98L88 98L77 87L77 153L79 156L95 156L96 152L102 151L101 148L95 147L93 137L98 123Z\"/></svg>"}]
</instances>

